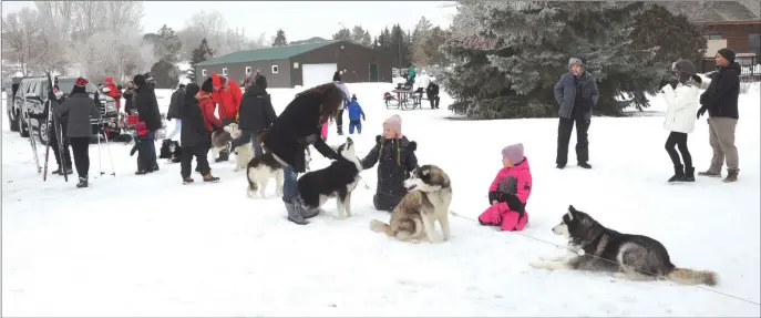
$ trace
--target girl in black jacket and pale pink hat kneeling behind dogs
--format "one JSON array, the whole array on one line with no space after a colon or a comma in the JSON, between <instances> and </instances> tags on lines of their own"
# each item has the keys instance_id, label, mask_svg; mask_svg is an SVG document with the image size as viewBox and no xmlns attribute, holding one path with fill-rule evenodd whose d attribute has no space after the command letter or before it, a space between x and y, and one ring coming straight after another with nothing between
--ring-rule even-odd
<instances>
[{"instance_id":1,"label":"girl in black jacket and pale pink hat kneeling behind dogs","mask_svg":"<svg viewBox=\"0 0 761 318\"><path fill-rule=\"evenodd\" d=\"M383 122L383 135L376 136L376 146L362 160L362 168L378 163L378 185L372 204L378 211L391 212L407 195L404 181L418 167L415 142L402 135L402 117L393 115Z\"/></svg>"}]
</instances>

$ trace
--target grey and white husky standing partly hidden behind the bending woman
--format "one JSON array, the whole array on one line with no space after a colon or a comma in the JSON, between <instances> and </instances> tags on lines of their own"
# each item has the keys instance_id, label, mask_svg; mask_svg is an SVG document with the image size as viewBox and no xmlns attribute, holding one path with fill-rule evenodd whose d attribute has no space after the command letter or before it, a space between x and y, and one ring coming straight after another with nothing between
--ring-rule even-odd
<instances>
[{"instance_id":1,"label":"grey and white husky standing partly hidden behind the bending woman","mask_svg":"<svg viewBox=\"0 0 761 318\"><path fill-rule=\"evenodd\" d=\"M309 147L307 147L304 156L308 170L309 162L311 162ZM282 196L282 164L275 158L272 153L265 152L265 154L251 158L246 167L246 177L248 178L248 187L246 188L248 197L253 197L258 191L259 195L266 198L265 191L270 178L275 178L277 195Z\"/></svg>"}]
</instances>

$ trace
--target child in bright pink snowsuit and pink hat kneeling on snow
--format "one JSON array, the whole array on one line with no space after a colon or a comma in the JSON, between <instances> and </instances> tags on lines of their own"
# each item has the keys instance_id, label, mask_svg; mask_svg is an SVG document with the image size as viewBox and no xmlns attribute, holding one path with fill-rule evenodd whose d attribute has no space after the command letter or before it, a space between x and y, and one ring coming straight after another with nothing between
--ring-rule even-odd
<instances>
[{"instance_id":1,"label":"child in bright pink snowsuit and pink hat kneeling on snow","mask_svg":"<svg viewBox=\"0 0 761 318\"><path fill-rule=\"evenodd\" d=\"M481 225L498 225L502 230L523 230L528 222L526 202L531 195L532 178L528 160L523 155L523 144L502 150L500 170L489 187L492 206L479 216Z\"/></svg>"}]
</instances>

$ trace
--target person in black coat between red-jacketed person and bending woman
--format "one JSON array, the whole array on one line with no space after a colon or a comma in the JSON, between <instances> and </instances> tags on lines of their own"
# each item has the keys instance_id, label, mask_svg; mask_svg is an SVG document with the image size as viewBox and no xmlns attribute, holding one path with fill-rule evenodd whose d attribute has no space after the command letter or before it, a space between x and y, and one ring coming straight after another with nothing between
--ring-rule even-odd
<instances>
[{"instance_id":1,"label":"person in black coat between red-jacketed person and bending woman","mask_svg":"<svg viewBox=\"0 0 761 318\"><path fill-rule=\"evenodd\" d=\"M272 102L266 91L267 79L264 75L257 75L256 82L253 82L253 76L248 76L244 83L246 92L243 94L238 110L240 136L230 142L230 151L251 142L254 155L260 156L264 152L258 135L272 125L272 122L277 120L277 114L275 114Z\"/></svg>"}]
</instances>

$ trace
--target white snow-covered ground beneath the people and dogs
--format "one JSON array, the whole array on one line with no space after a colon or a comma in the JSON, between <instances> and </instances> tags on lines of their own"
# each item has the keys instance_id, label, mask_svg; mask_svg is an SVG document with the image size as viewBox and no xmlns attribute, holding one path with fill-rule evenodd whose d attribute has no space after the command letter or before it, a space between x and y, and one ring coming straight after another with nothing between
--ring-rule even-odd
<instances>
[{"instance_id":1,"label":"white snow-covered ground beneath the people and dogs","mask_svg":"<svg viewBox=\"0 0 761 318\"><path fill-rule=\"evenodd\" d=\"M450 174L452 211L475 218L500 150L522 142L534 177L522 235L563 244L551 227L573 204L608 227L659 239L678 266L717 271L717 290L760 301L758 86L741 96L740 181L681 185L666 183L672 170L661 116L594 119L594 170L557 171L557 120L451 121L446 98L440 111L385 110L391 86L349 84L368 119L359 151L371 148L385 117L401 114L420 163ZM271 93L279 111L295 92ZM164 106L168 94L160 94ZM135 176L130 147L111 144L116 176L105 147L99 176L93 144L90 188L62 177L43 183L29 142L2 116L3 316L761 316L758 305L696 287L533 269L529 261L562 252L461 217L452 217L449 243L401 244L368 229L388 214L373 211L373 191L362 186L354 217L297 226L285 220L274 188L269 199L247 198L232 161L212 164L218 184L182 185L178 164ZM331 129L329 143L341 140ZM706 168L705 119L689 145ZM326 164L318 156L312 167ZM374 188L374 168L362 177Z\"/></svg>"}]
</instances>

